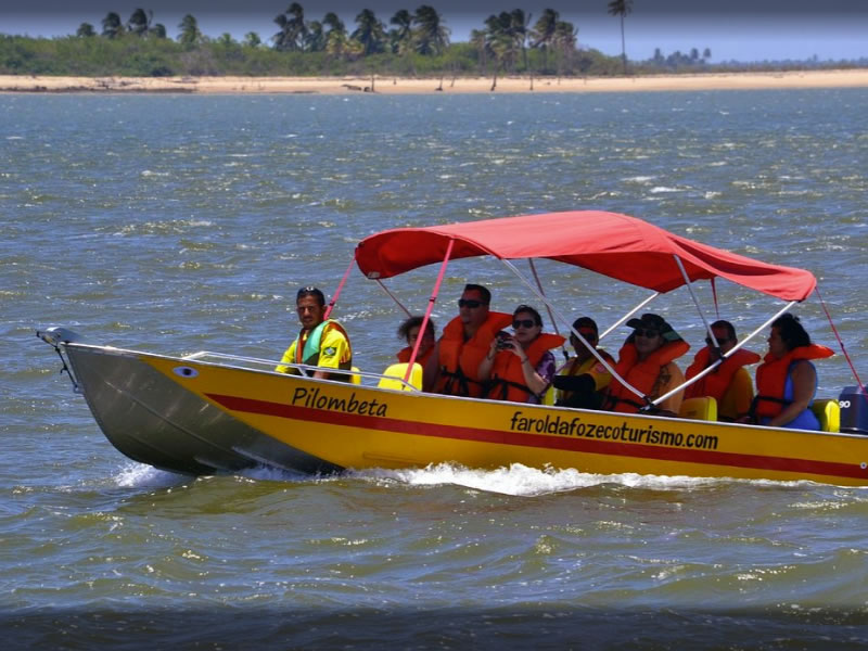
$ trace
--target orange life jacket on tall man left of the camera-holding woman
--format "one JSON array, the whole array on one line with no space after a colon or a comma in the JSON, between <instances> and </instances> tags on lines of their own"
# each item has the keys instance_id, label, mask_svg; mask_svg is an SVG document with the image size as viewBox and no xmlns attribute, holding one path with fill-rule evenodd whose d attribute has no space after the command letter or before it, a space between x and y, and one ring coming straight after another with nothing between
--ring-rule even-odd
<instances>
[{"instance_id":1,"label":"orange life jacket on tall man left of the camera-holding woman","mask_svg":"<svg viewBox=\"0 0 868 651\"><path fill-rule=\"evenodd\" d=\"M434 393L478 398L482 395L480 362L488 355L492 340L510 323L512 315L489 311L485 322L465 342L460 317L449 321L439 341L441 372Z\"/></svg>"}]
</instances>

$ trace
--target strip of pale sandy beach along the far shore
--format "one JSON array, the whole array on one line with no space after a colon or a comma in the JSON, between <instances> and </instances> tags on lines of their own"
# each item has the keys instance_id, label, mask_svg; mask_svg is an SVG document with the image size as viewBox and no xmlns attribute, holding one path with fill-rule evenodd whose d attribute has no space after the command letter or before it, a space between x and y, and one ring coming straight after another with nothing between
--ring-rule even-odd
<instances>
[{"instance_id":1,"label":"strip of pale sandy beach along the far shore","mask_svg":"<svg viewBox=\"0 0 868 651\"><path fill-rule=\"evenodd\" d=\"M494 92L647 92L868 88L868 68L635 77L499 77ZM177 92L202 94L490 93L490 77L50 77L0 75L0 92Z\"/></svg>"}]
</instances>

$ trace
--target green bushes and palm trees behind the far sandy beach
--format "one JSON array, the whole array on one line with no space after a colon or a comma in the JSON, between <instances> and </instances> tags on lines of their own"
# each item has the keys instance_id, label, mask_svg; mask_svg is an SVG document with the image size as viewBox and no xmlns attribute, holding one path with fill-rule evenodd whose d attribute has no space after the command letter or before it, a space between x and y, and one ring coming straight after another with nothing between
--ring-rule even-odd
<instances>
[{"instance_id":1,"label":"green bushes and palm trees behind the far sandy beach","mask_svg":"<svg viewBox=\"0 0 868 651\"><path fill-rule=\"evenodd\" d=\"M602 0L601 0L602 1ZM613 76L627 74L624 37L625 17L633 0L608 2L609 13L621 21L622 53L608 56L580 48L578 28L546 9L532 16L516 9L493 14L470 42L449 41L449 29L441 14L423 4L414 12L397 11L386 23L362 9L349 29L333 12L321 20L307 20L298 2L278 14L275 35L263 39L248 33L242 42L231 35L203 35L196 18L187 14L177 26L176 39L153 22L153 12L136 9L124 23L108 12L98 34L81 23L74 36L30 38L0 34L0 74L58 76L461 76L558 75ZM270 43L270 44L269 44ZM711 65L709 49L700 56L668 56L658 50L647 61L629 62L631 74L672 72L725 72L732 69L790 69L831 67L833 64L784 62L774 64ZM851 62L855 67L863 62ZM841 67L842 62L834 64Z\"/></svg>"}]
</instances>

